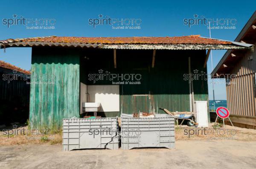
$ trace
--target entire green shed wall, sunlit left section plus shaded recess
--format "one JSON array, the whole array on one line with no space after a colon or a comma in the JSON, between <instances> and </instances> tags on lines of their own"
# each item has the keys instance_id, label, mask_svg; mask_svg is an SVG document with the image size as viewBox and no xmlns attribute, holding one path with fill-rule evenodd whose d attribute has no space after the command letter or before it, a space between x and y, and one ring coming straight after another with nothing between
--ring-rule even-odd
<instances>
[{"instance_id":1,"label":"entire green shed wall, sunlit left section plus shaded recess","mask_svg":"<svg viewBox=\"0 0 256 169\"><path fill-rule=\"evenodd\" d=\"M33 48L32 73L55 74L55 85L31 85L30 123L32 128L60 127L62 118L79 117L79 83L93 85L89 73L102 69L111 73L140 73L141 85L120 85L120 112L106 116L138 111L163 113L189 111L189 83L183 79L191 71L203 68L206 51L156 52L154 68L152 50L117 50L117 68L113 65L113 50ZM89 59L88 59L89 58ZM81 63L81 64L80 64ZM80 69L81 68L81 69ZM33 76L33 75L32 75ZM37 82L35 78L31 82ZM94 85L111 85L112 81L98 81ZM208 100L207 81L194 81L195 100Z\"/></svg>"}]
</instances>

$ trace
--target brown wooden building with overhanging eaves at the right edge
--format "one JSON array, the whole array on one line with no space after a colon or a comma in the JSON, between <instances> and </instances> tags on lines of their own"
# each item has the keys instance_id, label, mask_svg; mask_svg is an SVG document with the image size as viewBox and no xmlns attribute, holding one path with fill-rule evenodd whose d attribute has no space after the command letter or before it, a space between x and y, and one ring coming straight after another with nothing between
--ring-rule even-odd
<instances>
[{"instance_id":1,"label":"brown wooden building with overhanging eaves at the right edge","mask_svg":"<svg viewBox=\"0 0 256 169\"><path fill-rule=\"evenodd\" d=\"M251 50L228 50L216 68L215 77L227 79L227 108L234 125L256 129L256 12L236 37L235 42L253 44ZM227 77L227 76L226 76Z\"/></svg>"}]
</instances>

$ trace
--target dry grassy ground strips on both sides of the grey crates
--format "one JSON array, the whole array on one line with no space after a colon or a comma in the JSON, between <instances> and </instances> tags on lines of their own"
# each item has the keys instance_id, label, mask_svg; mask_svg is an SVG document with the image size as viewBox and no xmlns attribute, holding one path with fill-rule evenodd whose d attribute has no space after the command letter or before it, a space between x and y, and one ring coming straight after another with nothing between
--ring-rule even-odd
<instances>
[{"instance_id":1,"label":"dry grassy ground strips on both sides of the grey crates","mask_svg":"<svg viewBox=\"0 0 256 169\"><path fill-rule=\"evenodd\" d=\"M213 123L211 124L213 125ZM22 127L23 128L23 127ZM27 126L24 127L24 129L27 129ZM191 135L189 137L188 135L184 135L185 132L184 130L202 130L204 128L195 128L195 127L188 127L186 125L181 125L181 126L175 126L175 140L176 141L184 141L184 140L216 140L219 141L221 140L220 138L222 137L234 137L236 141L255 141L256 142L256 130L254 129L246 129L246 128L241 128L241 127L233 127L229 125L225 125L225 128L218 128L217 130L215 129L215 134L214 133L209 133L207 135L204 135L204 133L198 132L198 134ZM206 129L213 130L211 126L207 127ZM225 132L223 132L222 129L225 129ZM53 135L54 139L52 140L31 140L27 139L26 136L24 135L15 135L13 137L8 138L7 136L4 136L4 132L1 131L3 129L0 129L0 146L8 146L8 145L21 145L21 144L61 144L62 143L62 133L58 132L55 135ZM227 132L229 130L229 132ZM236 130L233 131L232 133L235 135L230 135L231 130ZM219 131L219 132L217 132ZM216 134L216 132L218 134ZM190 132L189 132L190 133ZM225 133L224 135L221 135ZM28 137L31 137L33 135L28 135ZM49 135L44 135L48 137ZM223 139L222 139L223 140Z\"/></svg>"}]
</instances>

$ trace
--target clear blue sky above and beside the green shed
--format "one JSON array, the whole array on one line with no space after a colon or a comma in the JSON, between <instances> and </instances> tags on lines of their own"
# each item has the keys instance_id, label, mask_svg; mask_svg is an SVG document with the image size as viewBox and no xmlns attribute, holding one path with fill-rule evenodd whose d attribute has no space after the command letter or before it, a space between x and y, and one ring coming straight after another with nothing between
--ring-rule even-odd
<instances>
[{"instance_id":1,"label":"clear blue sky above and beside the green shed","mask_svg":"<svg viewBox=\"0 0 256 169\"><path fill-rule=\"evenodd\" d=\"M183 25L186 18L194 14L206 18L234 18L236 29L212 30L212 38L234 40L247 20L255 11L256 1L86 1L86 0L12 0L1 2L0 39L76 36L76 37L166 37L200 34L209 37L209 30L204 25ZM3 19L12 19L13 14L26 18L53 18L55 29L26 29L24 25L3 25ZM98 15L112 18L139 18L141 29L116 30L109 25L93 28L88 19ZM213 67L217 65L225 51L213 51ZM29 70L31 68L31 48L7 48L0 50L0 60ZM207 63L211 72L210 59ZM215 99L226 99L225 85L215 85ZM212 85L209 85L209 99L212 99Z\"/></svg>"}]
</instances>

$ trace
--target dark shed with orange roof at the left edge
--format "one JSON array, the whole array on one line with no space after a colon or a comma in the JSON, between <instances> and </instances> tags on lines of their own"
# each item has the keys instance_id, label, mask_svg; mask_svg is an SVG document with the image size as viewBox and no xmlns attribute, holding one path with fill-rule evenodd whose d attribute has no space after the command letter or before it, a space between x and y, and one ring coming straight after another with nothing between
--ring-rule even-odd
<instances>
[{"instance_id":1,"label":"dark shed with orange roof at the left edge","mask_svg":"<svg viewBox=\"0 0 256 169\"><path fill-rule=\"evenodd\" d=\"M29 117L30 72L0 61L0 125L25 123Z\"/></svg>"}]
</instances>

